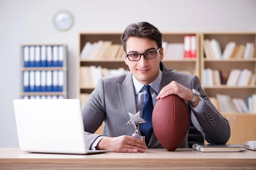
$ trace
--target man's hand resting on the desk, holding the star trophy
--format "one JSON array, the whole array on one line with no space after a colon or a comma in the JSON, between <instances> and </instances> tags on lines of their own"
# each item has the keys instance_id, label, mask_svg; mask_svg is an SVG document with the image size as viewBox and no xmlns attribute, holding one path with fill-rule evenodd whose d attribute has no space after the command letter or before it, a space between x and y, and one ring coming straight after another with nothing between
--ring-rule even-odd
<instances>
[{"instance_id":1,"label":"man's hand resting on the desk, holding the star trophy","mask_svg":"<svg viewBox=\"0 0 256 170\"><path fill-rule=\"evenodd\" d=\"M104 137L96 146L97 150L111 150L111 152L137 153L145 152L146 143L132 136L119 136L115 138Z\"/></svg>"}]
</instances>

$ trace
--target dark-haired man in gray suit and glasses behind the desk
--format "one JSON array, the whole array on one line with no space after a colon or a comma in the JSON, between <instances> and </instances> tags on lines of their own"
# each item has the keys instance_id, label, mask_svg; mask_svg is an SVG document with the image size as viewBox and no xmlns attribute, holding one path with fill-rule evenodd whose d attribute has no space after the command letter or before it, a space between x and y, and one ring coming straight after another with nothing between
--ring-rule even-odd
<instances>
[{"instance_id":1,"label":"dark-haired man in gray suit and glasses behind the desk","mask_svg":"<svg viewBox=\"0 0 256 170\"><path fill-rule=\"evenodd\" d=\"M147 22L129 25L121 37L124 59L130 71L99 79L82 106L87 149L112 152L145 152L163 148L152 128L151 116L157 99L171 94L187 105L192 124L211 144L225 144L230 125L212 105L197 76L166 68L163 64L162 34ZM126 125L129 113L146 120L140 126L145 142L132 137L135 129ZM93 134L105 121L105 135ZM181 148L188 147L187 136Z\"/></svg>"}]
</instances>

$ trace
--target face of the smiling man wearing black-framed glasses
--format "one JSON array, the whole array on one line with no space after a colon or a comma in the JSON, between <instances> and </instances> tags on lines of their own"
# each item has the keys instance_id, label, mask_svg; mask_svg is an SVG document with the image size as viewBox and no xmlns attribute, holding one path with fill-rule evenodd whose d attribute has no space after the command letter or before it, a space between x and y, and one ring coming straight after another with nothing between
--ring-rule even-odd
<instances>
[{"instance_id":1,"label":"face of the smiling man wearing black-framed glasses","mask_svg":"<svg viewBox=\"0 0 256 170\"><path fill-rule=\"evenodd\" d=\"M157 43L148 38L130 37L126 42L126 53L145 53L148 51L157 51ZM138 61L130 61L124 52L125 63L128 65L131 73L141 83L148 85L153 82L159 74L159 63L163 60L163 48L157 53L154 59L145 59L143 55Z\"/></svg>"}]
</instances>

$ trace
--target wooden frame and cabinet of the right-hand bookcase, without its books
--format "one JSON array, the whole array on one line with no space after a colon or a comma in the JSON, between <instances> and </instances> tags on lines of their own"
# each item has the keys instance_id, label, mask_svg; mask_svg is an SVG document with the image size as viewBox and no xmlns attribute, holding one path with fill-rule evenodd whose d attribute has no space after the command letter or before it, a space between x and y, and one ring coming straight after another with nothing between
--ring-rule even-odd
<instances>
[{"instance_id":1,"label":"wooden frame and cabinet of the right-hand bookcase, without its books","mask_svg":"<svg viewBox=\"0 0 256 170\"><path fill-rule=\"evenodd\" d=\"M256 85L246 86L229 86L226 84L205 86L204 85L204 69L220 70L224 82L230 75L232 69L248 69L252 73L256 73L255 52L253 58L241 59L213 59L206 58L204 49L204 40L215 39L218 41L221 52L223 54L226 45L229 42L236 42L237 45L246 44L247 42L256 44L256 33L252 32L205 32L200 34L200 70L201 83L209 97L216 97L216 94L226 94L231 98L242 98L247 104L247 97L256 94ZM244 142L256 140L256 113L224 113L221 114L230 122L231 136L228 143L237 143L243 145Z\"/></svg>"}]
</instances>

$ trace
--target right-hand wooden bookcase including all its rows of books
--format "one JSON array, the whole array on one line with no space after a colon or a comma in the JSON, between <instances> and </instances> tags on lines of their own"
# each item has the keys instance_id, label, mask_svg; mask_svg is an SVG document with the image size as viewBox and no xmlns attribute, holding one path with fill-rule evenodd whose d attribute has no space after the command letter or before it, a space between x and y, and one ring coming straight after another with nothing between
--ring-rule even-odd
<instances>
[{"instance_id":1,"label":"right-hand wooden bookcase including all its rows of books","mask_svg":"<svg viewBox=\"0 0 256 170\"><path fill-rule=\"evenodd\" d=\"M201 83L230 122L229 143L256 140L249 120L256 120L256 33L203 33L200 39Z\"/></svg>"}]
</instances>

